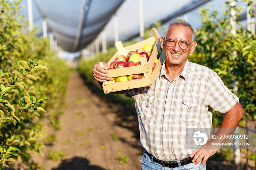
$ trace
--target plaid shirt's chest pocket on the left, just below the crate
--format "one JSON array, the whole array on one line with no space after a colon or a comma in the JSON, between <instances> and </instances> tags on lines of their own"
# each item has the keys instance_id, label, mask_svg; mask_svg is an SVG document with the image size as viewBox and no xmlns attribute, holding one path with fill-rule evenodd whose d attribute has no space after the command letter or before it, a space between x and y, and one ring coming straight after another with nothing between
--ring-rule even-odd
<instances>
[{"instance_id":1,"label":"plaid shirt's chest pocket on the left, just below the crate","mask_svg":"<svg viewBox=\"0 0 256 170\"><path fill-rule=\"evenodd\" d=\"M155 96L143 94L141 97L142 114L146 119L152 119L155 109Z\"/></svg>"}]
</instances>

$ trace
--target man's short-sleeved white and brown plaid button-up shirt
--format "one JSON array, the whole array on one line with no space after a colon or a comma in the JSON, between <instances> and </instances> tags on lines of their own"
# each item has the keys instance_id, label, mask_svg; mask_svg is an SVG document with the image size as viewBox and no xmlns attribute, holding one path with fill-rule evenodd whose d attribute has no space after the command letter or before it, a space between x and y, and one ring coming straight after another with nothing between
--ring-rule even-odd
<instances>
[{"instance_id":1,"label":"man's short-sleeved white and brown plaid button-up shirt","mask_svg":"<svg viewBox=\"0 0 256 170\"><path fill-rule=\"evenodd\" d=\"M212 109L226 113L239 99L215 72L189 61L171 82L165 62L153 86L123 93L135 100L142 147L170 161L193 152L186 148L186 128L211 128Z\"/></svg>"}]
</instances>

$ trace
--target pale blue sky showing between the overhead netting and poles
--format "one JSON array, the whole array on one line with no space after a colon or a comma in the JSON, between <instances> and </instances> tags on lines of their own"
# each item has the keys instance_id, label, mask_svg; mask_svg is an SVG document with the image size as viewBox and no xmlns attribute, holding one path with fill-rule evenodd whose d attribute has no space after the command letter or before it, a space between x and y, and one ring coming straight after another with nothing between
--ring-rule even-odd
<instances>
[{"instance_id":1,"label":"pale blue sky showing between the overhead netting and poles","mask_svg":"<svg viewBox=\"0 0 256 170\"><path fill-rule=\"evenodd\" d=\"M32 0L33 1L33 0ZM176 10L180 9L187 3L189 3L192 0L143 0L143 19L144 19L144 27L151 25L154 22L157 22L166 16L172 14ZM212 7L216 7L221 9L222 5L225 4L226 0L210 0L209 3ZM240 3L241 0L239 0L240 5L246 5L246 3ZM27 14L27 0L22 0L21 2L24 7L22 8L22 13L24 14L25 18L28 18ZM42 17L35 6L34 3L32 3L33 6L33 20L34 25L38 26L39 32L42 32ZM61 7L61 4L59 4ZM205 7L207 7L207 4L204 4ZM196 8L191 12L187 13L187 19L188 22L192 25L194 28L198 28L200 26L200 18L199 15L199 9L202 8ZM246 11L246 9L243 9ZM221 11L219 12L221 15ZM138 0L125 0L124 3L120 6L120 8L116 11L116 15L118 17L118 36L119 40L124 41L128 39L130 36L132 36L135 33L139 32L139 8L138 8ZM180 18L183 18L183 16L180 16ZM246 23L245 23L246 24ZM110 19L109 23L106 24L106 26L103 28L106 31L106 38L107 43L110 45L114 44L114 20L113 17ZM160 36L163 35L163 32L158 32ZM101 35L98 36L99 39L101 39ZM76 56L78 56L80 53L68 53L66 51L63 51L63 58L64 59L72 59Z\"/></svg>"}]
</instances>

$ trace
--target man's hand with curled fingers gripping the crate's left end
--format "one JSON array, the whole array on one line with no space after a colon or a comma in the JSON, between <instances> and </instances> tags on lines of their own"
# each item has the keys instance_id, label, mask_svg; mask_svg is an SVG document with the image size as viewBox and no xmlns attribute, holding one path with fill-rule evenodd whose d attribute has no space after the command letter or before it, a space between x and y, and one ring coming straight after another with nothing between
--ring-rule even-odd
<instances>
[{"instance_id":1,"label":"man's hand with curled fingers gripping the crate's left end","mask_svg":"<svg viewBox=\"0 0 256 170\"><path fill-rule=\"evenodd\" d=\"M99 82L104 82L106 80L109 80L109 74L106 71L108 69L107 63L103 62L104 68L98 65L98 62L94 64L92 72L93 72L93 77L95 80Z\"/></svg>"}]
</instances>

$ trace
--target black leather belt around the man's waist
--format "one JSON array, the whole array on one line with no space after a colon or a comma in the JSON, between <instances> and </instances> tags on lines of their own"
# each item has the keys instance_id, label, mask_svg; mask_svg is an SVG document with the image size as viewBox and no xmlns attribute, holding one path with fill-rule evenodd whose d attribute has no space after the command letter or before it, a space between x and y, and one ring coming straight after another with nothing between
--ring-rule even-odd
<instances>
[{"instance_id":1,"label":"black leather belt around the man's waist","mask_svg":"<svg viewBox=\"0 0 256 170\"><path fill-rule=\"evenodd\" d=\"M148 156L150 158L152 158L152 155L150 153L148 153L147 151L146 151L146 153L148 154ZM180 160L181 166L187 165L187 164L191 163L192 159L193 158L191 158L191 157L188 157L188 158L185 158L185 159L181 159ZM159 163L160 165L162 165L162 167L175 168L175 167L179 166L177 161L162 161L162 160L159 160L159 159L157 159L155 157L153 157L153 161L156 162L156 163Z\"/></svg>"}]
</instances>

